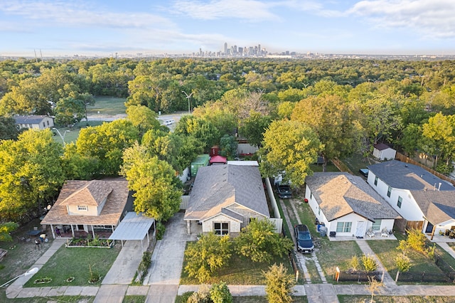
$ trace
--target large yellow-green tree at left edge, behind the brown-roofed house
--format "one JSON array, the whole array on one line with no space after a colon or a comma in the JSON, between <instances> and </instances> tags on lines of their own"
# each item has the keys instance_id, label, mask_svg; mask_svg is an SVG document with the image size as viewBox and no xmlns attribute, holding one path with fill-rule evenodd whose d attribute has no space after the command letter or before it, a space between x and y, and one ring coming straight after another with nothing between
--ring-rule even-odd
<instances>
[{"instance_id":1,"label":"large yellow-green tree at left edge, behind the brown-roofed house","mask_svg":"<svg viewBox=\"0 0 455 303\"><path fill-rule=\"evenodd\" d=\"M28 129L0 142L0 218L21 222L41 216L65 181L61 144L49 129Z\"/></svg>"}]
</instances>

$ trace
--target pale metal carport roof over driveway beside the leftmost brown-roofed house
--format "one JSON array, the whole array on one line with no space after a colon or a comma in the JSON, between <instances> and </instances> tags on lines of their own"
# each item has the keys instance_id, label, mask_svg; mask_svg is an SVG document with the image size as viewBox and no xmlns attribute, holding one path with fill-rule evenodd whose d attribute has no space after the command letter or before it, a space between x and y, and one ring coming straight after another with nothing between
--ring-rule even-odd
<instances>
[{"instance_id":1,"label":"pale metal carport roof over driveway beside the leftmost brown-roofed house","mask_svg":"<svg viewBox=\"0 0 455 303\"><path fill-rule=\"evenodd\" d=\"M115 228L109 240L143 240L154 221L154 218L130 211Z\"/></svg>"}]
</instances>

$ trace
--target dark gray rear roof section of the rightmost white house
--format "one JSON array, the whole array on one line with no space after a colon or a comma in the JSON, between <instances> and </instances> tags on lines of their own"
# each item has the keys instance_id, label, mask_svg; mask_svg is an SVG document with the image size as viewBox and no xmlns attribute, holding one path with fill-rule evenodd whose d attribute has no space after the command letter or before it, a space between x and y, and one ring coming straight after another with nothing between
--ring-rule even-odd
<instances>
[{"instance_id":1,"label":"dark gray rear roof section of the rightmost white house","mask_svg":"<svg viewBox=\"0 0 455 303\"><path fill-rule=\"evenodd\" d=\"M436 186L441 191L454 191L455 187L439 179L422 167L397 160L385 161L368 166L368 169L392 188L409 189L411 191L432 190Z\"/></svg>"}]
</instances>

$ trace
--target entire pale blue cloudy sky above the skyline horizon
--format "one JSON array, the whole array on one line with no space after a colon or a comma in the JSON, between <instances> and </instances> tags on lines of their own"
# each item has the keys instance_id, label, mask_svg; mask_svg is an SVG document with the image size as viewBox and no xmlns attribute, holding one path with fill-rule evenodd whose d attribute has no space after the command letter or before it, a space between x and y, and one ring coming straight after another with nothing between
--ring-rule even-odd
<instances>
[{"instance_id":1,"label":"entire pale blue cloudy sky above the skyline horizon","mask_svg":"<svg viewBox=\"0 0 455 303\"><path fill-rule=\"evenodd\" d=\"M0 56L216 52L224 43L454 55L455 0L0 0Z\"/></svg>"}]
</instances>

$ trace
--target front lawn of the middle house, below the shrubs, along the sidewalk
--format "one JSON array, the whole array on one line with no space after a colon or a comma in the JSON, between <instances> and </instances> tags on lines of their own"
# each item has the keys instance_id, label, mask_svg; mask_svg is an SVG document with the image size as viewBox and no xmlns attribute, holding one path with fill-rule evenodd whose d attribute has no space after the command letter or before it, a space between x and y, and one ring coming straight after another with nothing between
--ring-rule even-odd
<instances>
[{"instance_id":1,"label":"front lawn of the middle house, below the shrubs, along the sidewalk","mask_svg":"<svg viewBox=\"0 0 455 303\"><path fill-rule=\"evenodd\" d=\"M213 277L207 284L225 282L228 285L264 285L264 275L262 272L269 270L269 267L274 263L283 263L287 267L289 275L294 275L291 262L288 256L275 257L270 263L252 262L250 259L232 253L230 262L225 267L213 273ZM183 260L183 268L180 278L181 285L199 285L199 281L195 278L188 277L185 272L186 260Z\"/></svg>"}]
</instances>

